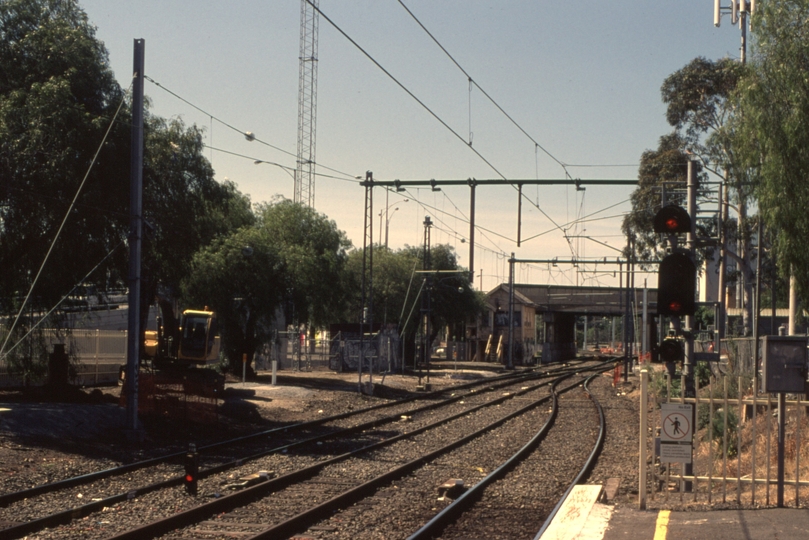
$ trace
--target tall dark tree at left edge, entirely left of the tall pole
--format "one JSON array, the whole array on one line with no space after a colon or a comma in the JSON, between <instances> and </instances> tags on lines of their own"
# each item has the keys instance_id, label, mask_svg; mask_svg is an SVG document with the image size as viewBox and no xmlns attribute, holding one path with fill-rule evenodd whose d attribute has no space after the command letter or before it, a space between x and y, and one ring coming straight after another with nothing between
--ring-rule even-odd
<instances>
[{"instance_id":1,"label":"tall dark tree at left edge, entirely left of the tall pole","mask_svg":"<svg viewBox=\"0 0 809 540\"><path fill-rule=\"evenodd\" d=\"M14 313L54 245L34 299L52 306L125 237L120 212L128 154L113 125L123 92L84 12L73 1L0 4L0 303ZM118 141L118 142L115 142ZM39 306L38 306L39 307Z\"/></svg>"}]
</instances>

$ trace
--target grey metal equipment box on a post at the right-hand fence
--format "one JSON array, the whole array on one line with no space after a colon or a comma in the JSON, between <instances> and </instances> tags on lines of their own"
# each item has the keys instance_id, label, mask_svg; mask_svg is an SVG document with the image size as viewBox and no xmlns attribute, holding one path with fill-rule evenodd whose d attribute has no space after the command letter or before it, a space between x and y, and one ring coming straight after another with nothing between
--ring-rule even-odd
<instances>
[{"instance_id":1,"label":"grey metal equipment box on a post at the right-hand fence","mask_svg":"<svg viewBox=\"0 0 809 540\"><path fill-rule=\"evenodd\" d=\"M802 394L806 390L806 336L764 336L761 391Z\"/></svg>"}]
</instances>

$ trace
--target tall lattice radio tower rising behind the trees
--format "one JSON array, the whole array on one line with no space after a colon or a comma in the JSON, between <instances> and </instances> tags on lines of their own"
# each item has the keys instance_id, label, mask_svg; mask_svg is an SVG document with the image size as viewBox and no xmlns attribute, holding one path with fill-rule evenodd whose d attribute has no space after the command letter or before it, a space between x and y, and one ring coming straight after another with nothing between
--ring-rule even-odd
<instances>
[{"instance_id":1,"label":"tall lattice radio tower rising behind the trees","mask_svg":"<svg viewBox=\"0 0 809 540\"><path fill-rule=\"evenodd\" d=\"M298 72L297 203L315 206L315 120L317 117L317 26L319 0L301 0L301 47Z\"/></svg>"}]
</instances>

